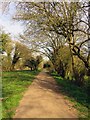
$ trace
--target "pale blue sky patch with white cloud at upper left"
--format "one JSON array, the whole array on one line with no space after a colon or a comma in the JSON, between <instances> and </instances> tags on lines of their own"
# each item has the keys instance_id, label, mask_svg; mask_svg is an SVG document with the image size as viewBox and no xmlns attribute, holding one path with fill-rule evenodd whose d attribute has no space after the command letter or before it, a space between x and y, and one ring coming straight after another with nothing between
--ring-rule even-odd
<instances>
[{"instance_id":1,"label":"pale blue sky patch with white cloud at upper left","mask_svg":"<svg viewBox=\"0 0 90 120\"><path fill-rule=\"evenodd\" d=\"M11 36L15 39L18 37L19 34L23 33L24 26L20 21L16 21L12 19L13 15L15 14L14 3L10 4L9 11L3 12L3 9L6 9L6 8L3 8L0 5L0 28L3 28L3 30L6 33L10 33Z\"/></svg>"}]
</instances>

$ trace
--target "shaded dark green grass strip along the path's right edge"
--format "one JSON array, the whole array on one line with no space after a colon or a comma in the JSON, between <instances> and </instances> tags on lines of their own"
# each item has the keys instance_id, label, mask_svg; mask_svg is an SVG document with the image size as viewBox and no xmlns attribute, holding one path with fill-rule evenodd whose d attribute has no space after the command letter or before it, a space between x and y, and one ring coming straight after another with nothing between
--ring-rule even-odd
<instances>
[{"instance_id":1,"label":"shaded dark green grass strip along the path's right edge","mask_svg":"<svg viewBox=\"0 0 90 120\"><path fill-rule=\"evenodd\" d=\"M90 108L90 103L88 102L87 88L78 87L70 80L63 79L56 73L51 73L51 75L60 86L61 92L67 99L73 102L74 107L79 111L79 117L88 118L88 108Z\"/></svg>"}]
</instances>

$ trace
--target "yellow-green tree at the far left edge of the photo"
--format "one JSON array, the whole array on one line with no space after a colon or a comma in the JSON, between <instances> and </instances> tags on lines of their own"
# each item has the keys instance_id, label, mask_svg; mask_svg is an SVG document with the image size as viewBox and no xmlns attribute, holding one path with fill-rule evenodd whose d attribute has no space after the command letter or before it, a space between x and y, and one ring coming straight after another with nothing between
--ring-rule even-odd
<instances>
[{"instance_id":1,"label":"yellow-green tree at the far left edge of the photo","mask_svg":"<svg viewBox=\"0 0 90 120\"><path fill-rule=\"evenodd\" d=\"M2 32L0 34L1 40L1 56L2 56L2 69L3 70L10 70L11 67L11 53L13 49L13 42L9 34Z\"/></svg>"}]
</instances>

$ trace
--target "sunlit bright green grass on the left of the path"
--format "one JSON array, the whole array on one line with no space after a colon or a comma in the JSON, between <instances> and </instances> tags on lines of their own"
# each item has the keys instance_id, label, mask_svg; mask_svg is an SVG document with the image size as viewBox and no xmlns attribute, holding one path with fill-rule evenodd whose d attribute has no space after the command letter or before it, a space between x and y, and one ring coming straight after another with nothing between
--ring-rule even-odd
<instances>
[{"instance_id":1,"label":"sunlit bright green grass on the left of the path","mask_svg":"<svg viewBox=\"0 0 90 120\"><path fill-rule=\"evenodd\" d=\"M12 118L23 93L39 71L13 71L2 74L3 118Z\"/></svg>"}]
</instances>

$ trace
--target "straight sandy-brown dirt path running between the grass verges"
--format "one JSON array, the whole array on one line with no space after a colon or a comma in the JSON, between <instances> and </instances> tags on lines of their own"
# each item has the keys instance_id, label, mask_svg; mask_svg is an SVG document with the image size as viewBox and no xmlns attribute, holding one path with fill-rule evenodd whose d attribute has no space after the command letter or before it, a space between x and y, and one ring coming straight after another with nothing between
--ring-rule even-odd
<instances>
[{"instance_id":1,"label":"straight sandy-brown dirt path running between the grass verges","mask_svg":"<svg viewBox=\"0 0 90 120\"><path fill-rule=\"evenodd\" d=\"M64 97L55 80L41 72L24 94L14 118L77 118L77 111Z\"/></svg>"}]
</instances>

